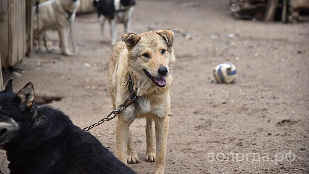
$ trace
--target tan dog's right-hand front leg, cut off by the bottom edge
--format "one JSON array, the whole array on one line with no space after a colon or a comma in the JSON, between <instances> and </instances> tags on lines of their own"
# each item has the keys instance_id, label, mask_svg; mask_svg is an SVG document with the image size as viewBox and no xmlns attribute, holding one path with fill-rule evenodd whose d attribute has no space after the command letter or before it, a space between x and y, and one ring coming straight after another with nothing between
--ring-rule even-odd
<instances>
[{"instance_id":1,"label":"tan dog's right-hand front leg, cut off by the bottom edge","mask_svg":"<svg viewBox=\"0 0 309 174\"><path fill-rule=\"evenodd\" d=\"M155 174L164 174L167 134L169 131L169 116L155 118L156 128L156 159Z\"/></svg>"}]
</instances>

